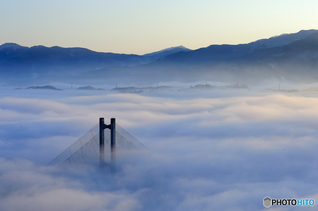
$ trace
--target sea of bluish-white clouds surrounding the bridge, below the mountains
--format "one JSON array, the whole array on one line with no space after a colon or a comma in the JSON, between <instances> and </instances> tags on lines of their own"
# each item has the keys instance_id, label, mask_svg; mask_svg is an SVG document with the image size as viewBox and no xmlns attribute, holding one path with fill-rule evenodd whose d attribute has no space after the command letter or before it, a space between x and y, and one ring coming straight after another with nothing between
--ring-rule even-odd
<instances>
[{"instance_id":1,"label":"sea of bluish-white clouds surrounding the bridge, below the mountains","mask_svg":"<svg viewBox=\"0 0 318 211\"><path fill-rule=\"evenodd\" d=\"M267 196L318 203L318 92L0 92L1 210L255 211L268 209ZM101 116L151 152L116 175L44 170Z\"/></svg>"}]
</instances>

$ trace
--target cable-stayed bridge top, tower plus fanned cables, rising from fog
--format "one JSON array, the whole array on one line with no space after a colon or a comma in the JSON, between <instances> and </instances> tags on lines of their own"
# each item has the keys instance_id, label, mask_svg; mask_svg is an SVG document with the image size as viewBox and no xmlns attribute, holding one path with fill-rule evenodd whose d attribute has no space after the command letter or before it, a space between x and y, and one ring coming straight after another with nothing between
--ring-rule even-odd
<instances>
[{"instance_id":1,"label":"cable-stayed bridge top, tower plus fanned cables, rising from fog","mask_svg":"<svg viewBox=\"0 0 318 211\"><path fill-rule=\"evenodd\" d=\"M78 171L82 168L110 167L116 171L116 165L128 159L137 157L142 151L149 150L126 130L110 119L109 125L104 118L85 135L74 142L46 167L59 171Z\"/></svg>"}]
</instances>

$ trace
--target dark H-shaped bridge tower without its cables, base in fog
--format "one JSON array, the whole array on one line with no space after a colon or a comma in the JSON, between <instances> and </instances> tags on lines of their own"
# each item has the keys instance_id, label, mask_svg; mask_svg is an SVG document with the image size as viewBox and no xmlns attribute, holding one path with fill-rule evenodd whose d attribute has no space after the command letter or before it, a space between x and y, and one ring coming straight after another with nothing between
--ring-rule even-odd
<instances>
[{"instance_id":1,"label":"dark H-shaped bridge tower without its cables, base in fog","mask_svg":"<svg viewBox=\"0 0 318 211\"><path fill-rule=\"evenodd\" d=\"M104 129L110 129L110 163L105 162L105 139L104 139ZM116 121L115 118L110 119L110 124L104 123L104 118L100 117L100 170L105 166L109 166L114 173L116 171Z\"/></svg>"}]
</instances>

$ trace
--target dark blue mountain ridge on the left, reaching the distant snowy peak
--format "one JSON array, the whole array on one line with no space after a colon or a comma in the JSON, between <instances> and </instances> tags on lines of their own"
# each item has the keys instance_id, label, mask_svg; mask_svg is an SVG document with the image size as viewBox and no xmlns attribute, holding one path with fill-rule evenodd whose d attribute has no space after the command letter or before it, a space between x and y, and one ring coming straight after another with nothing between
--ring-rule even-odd
<instances>
[{"instance_id":1,"label":"dark blue mountain ridge on the left, reaching the distant snowy peak","mask_svg":"<svg viewBox=\"0 0 318 211\"><path fill-rule=\"evenodd\" d=\"M0 46L0 75L33 79L43 76L72 76L111 66L146 64L181 50L189 49L172 47L159 54L155 52L154 56L140 56L95 52L85 48L49 48L41 45L29 48L5 43Z\"/></svg>"}]
</instances>

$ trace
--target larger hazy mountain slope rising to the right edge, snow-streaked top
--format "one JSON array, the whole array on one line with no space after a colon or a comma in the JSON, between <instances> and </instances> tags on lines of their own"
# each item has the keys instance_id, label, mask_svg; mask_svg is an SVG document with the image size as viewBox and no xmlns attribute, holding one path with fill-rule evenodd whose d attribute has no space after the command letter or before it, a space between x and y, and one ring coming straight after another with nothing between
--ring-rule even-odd
<instances>
[{"instance_id":1,"label":"larger hazy mountain slope rising to the right edge, snow-streaked top","mask_svg":"<svg viewBox=\"0 0 318 211\"><path fill-rule=\"evenodd\" d=\"M288 43L294 39L297 40ZM272 45L275 47L268 47ZM316 82L317 70L318 32L308 30L248 44L212 45L178 52L149 64L89 71L85 77L111 76L116 81L139 83L209 80L255 85L282 77L294 82Z\"/></svg>"}]
</instances>

